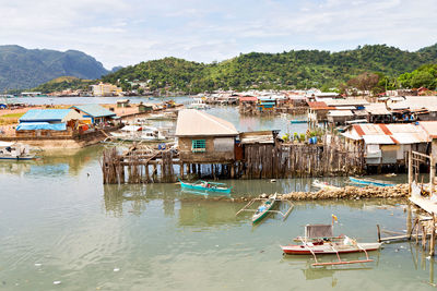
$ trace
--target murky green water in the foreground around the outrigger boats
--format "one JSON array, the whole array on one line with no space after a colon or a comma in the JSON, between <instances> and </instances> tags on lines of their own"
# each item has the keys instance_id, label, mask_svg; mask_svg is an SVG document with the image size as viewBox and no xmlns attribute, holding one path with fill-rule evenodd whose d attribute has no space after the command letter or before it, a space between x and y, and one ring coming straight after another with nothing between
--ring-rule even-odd
<instances>
[{"instance_id":1,"label":"murky green water in the foreground around the outrigger boats","mask_svg":"<svg viewBox=\"0 0 437 291\"><path fill-rule=\"evenodd\" d=\"M104 186L101 150L0 163L0 290L427 290L435 280L434 260L410 243L335 268L282 255L280 245L304 225L329 223L331 214L336 233L359 241L375 241L377 223L404 230L398 202L298 203L286 221L270 217L253 228L249 213L235 216L244 204L175 184ZM234 196L310 190L310 180L229 184Z\"/></svg>"}]
</instances>

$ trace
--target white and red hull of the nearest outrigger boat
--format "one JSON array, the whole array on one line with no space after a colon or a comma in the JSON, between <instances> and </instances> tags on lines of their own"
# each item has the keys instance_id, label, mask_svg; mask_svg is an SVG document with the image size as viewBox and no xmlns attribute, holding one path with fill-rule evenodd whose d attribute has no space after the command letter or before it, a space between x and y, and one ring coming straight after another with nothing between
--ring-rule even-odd
<instances>
[{"instance_id":1,"label":"white and red hull of the nearest outrigger boat","mask_svg":"<svg viewBox=\"0 0 437 291\"><path fill-rule=\"evenodd\" d=\"M381 243L358 243L355 245L334 245L335 250L329 243L322 245L304 246L297 244L281 245L284 254L287 255L311 255L311 251L315 254L350 254L350 253L361 253L363 250L366 252L377 251L381 247ZM310 251L310 250L311 251Z\"/></svg>"}]
</instances>

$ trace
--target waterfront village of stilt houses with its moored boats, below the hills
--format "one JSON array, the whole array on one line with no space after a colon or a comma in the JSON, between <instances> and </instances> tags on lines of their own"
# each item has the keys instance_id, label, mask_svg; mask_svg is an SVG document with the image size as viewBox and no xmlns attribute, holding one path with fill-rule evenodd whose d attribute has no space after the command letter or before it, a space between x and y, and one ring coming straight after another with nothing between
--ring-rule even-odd
<instances>
[{"instance_id":1,"label":"waterfront village of stilt houses with its moored boats, below the hills","mask_svg":"<svg viewBox=\"0 0 437 291\"><path fill-rule=\"evenodd\" d=\"M102 84L98 88L96 96L117 92L106 90ZM180 104L180 98L188 101ZM247 203L237 215L253 211L253 223L269 213L286 219L299 201L409 201L410 222L404 232L383 232L378 226L378 242L347 243L347 237L341 241L333 238L332 225L307 226L302 245L282 246L283 252L312 255L312 266L363 264L373 262L370 251L383 242L415 240L418 244L422 240L423 252L434 255L437 96L393 90L383 96L346 97L311 89L216 92L180 98L125 96L107 104L71 105L31 105L3 98L0 158L19 162L34 159L33 148L49 151L103 144L104 184L177 182L182 189L224 194L212 199ZM232 108L239 117L285 120L288 131L238 131L236 124L210 113L214 108ZM156 125L156 121L167 125ZM297 128L300 130L294 130ZM371 173L388 178L408 173L408 183L365 177ZM274 183L326 177L349 177L352 184L336 186L314 180L317 192L250 198L233 195L232 189L220 182L263 179ZM276 202L287 203L287 209L274 210ZM251 209L257 203L261 206ZM332 219L333 223L336 217L332 215ZM366 258L342 260L339 256L351 252L361 252ZM339 259L320 263L316 253L336 254Z\"/></svg>"}]
</instances>

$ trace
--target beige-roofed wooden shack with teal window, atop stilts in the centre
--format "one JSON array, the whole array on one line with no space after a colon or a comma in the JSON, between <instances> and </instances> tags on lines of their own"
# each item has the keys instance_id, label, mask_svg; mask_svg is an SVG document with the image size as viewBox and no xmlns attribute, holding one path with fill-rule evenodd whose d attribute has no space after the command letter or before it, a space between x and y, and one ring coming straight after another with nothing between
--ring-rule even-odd
<instances>
[{"instance_id":1,"label":"beige-roofed wooden shack with teal window, atop stilts in the centre","mask_svg":"<svg viewBox=\"0 0 437 291\"><path fill-rule=\"evenodd\" d=\"M186 163L231 163L235 160L234 124L203 111L179 111L176 134L179 157Z\"/></svg>"}]
</instances>

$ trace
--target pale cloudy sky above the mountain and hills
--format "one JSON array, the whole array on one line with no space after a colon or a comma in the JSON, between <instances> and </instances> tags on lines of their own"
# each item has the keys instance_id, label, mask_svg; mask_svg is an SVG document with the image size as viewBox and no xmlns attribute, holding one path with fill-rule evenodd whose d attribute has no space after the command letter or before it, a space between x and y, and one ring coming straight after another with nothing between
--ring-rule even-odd
<instances>
[{"instance_id":1,"label":"pale cloudy sky above the mountain and hills","mask_svg":"<svg viewBox=\"0 0 437 291\"><path fill-rule=\"evenodd\" d=\"M106 69L437 43L436 0L0 0L0 45L81 50Z\"/></svg>"}]
</instances>

